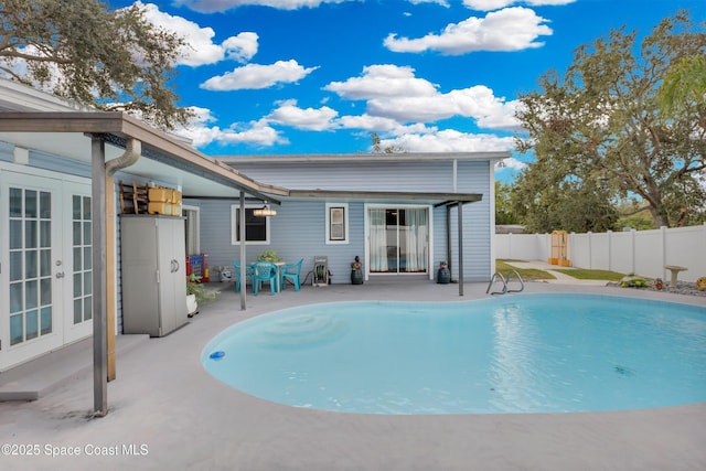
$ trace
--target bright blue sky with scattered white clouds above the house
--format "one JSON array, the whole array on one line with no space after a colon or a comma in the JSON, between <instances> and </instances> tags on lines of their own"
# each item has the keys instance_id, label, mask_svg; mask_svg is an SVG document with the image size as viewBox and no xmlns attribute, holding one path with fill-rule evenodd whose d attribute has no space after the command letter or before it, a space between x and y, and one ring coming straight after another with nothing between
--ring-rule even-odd
<instances>
[{"instance_id":1,"label":"bright blue sky with scattered white clouds above the house","mask_svg":"<svg viewBox=\"0 0 706 471\"><path fill-rule=\"evenodd\" d=\"M110 9L132 1L109 0ZM176 133L212 156L513 151L517 96L574 51L640 36L706 0L163 0L138 2L185 38ZM496 169L509 182L532 161Z\"/></svg>"}]
</instances>

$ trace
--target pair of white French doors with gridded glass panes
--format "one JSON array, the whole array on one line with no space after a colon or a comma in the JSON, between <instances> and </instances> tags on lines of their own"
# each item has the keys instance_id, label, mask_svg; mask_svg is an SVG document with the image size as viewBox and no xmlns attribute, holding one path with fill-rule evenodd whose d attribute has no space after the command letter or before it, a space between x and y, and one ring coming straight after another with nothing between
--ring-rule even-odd
<instances>
[{"instance_id":1,"label":"pair of white French doors with gridded glass panes","mask_svg":"<svg viewBox=\"0 0 706 471\"><path fill-rule=\"evenodd\" d=\"M0 171L0 371L90 334L89 195L87 184Z\"/></svg>"}]
</instances>

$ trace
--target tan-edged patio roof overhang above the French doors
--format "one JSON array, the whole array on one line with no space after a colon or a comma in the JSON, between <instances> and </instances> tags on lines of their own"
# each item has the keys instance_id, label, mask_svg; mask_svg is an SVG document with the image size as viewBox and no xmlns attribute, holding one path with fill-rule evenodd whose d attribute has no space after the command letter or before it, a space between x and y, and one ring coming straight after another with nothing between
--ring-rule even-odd
<instances>
[{"instance_id":1,"label":"tan-edged patio roof overhang above the French doors","mask_svg":"<svg viewBox=\"0 0 706 471\"><path fill-rule=\"evenodd\" d=\"M47 154L89 163L94 137L106 141L106 161L121 156L129 139L139 140L141 158L122 172L180 186L185 197L237 197L244 191L277 203L288 194L124 113L0 113L0 140Z\"/></svg>"}]
</instances>

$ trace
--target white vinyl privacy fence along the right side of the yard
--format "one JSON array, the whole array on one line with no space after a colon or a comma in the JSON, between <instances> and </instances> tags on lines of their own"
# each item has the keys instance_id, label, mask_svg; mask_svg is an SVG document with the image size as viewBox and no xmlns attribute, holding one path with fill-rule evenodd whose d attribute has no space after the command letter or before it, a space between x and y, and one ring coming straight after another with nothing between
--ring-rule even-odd
<instances>
[{"instance_id":1,"label":"white vinyl privacy fence along the right side of the yard","mask_svg":"<svg viewBox=\"0 0 706 471\"><path fill-rule=\"evenodd\" d=\"M665 265L687 268L681 281L706 277L706 224L653 231L568 235L571 267L670 279ZM547 261L550 234L495 234L495 257ZM559 267L557 267L559 268Z\"/></svg>"}]
</instances>

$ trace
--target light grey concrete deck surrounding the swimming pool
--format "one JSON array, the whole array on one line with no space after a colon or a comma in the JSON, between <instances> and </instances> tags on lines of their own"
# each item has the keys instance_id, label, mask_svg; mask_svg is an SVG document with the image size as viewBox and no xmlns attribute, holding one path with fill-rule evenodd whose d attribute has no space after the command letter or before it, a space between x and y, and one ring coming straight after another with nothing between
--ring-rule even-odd
<instances>
[{"instance_id":1,"label":"light grey concrete deck surrounding the swimming pool","mask_svg":"<svg viewBox=\"0 0 706 471\"><path fill-rule=\"evenodd\" d=\"M203 346L244 319L292 306L343 300L457 301L488 298L488 283L381 279L275 297L227 291L162 339L120 339L109 413L89 419L90 368L77 368L35 402L0 403L3 470L703 470L706 403L619 413L377 416L281 406L240 393L202 367ZM525 292L596 292L706 309L706 298L527 282ZM517 295L506 295L517 296ZM125 342L128 343L125 343ZM81 352L81 349L77 349ZM76 353L65 362L84 362ZM88 362L90 361L88 349ZM89 364L89 363L88 363ZM50 366L55 370L56 365ZM42 374L42 370L39 370ZM4 374L3 374L4 375ZM0 375L1 376L1 375ZM14 446L14 447L12 447ZM13 449L14 448L14 449ZM51 451L77 456L50 456ZM92 453L92 454L89 454ZM103 454L97 454L103 453ZM26 454L26 453L25 453Z\"/></svg>"}]
</instances>

